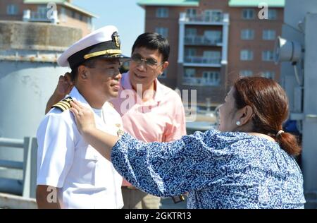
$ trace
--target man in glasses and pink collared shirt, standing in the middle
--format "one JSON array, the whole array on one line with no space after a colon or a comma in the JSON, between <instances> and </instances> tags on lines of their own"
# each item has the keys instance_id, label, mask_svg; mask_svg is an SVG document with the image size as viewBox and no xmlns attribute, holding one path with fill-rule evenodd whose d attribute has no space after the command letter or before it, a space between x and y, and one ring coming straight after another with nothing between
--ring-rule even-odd
<instances>
[{"instance_id":1,"label":"man in glasses and pink collared shirt, standing in the middle","mask_svg":"<svg viewBox=\"0 0 317 223\"><path fill-rule=\"evenodd\" d=\"M156 33L137 37L132 47L130 71L123 73L119 97L112 101L123 119L125 131L144 142L168 142L186 135L185 111L180 96L159 83L157 78L168 67L168 40ZM66 78L58 85L68 89ZM58 99L57 90L49 104ZM160 198L148 195L123 181L123 208L159 208Z\"/></svg>"}]
</instances>

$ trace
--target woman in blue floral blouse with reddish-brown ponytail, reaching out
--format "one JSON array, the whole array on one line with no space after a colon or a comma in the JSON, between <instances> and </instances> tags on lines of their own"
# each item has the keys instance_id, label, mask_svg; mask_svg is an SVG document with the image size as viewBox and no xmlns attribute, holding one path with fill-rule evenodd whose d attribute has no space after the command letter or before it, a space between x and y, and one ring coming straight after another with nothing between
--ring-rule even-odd
<instances>
[{"instance_id":1,"label":"woman in blue floral blouse with reddish-brown ponytail, reaching out","mask_svg":"<svg viewBox=\"0 0 317 223\"><path fill-rule=\"evenodd\" d=\"M219 110L218 130L171 143L143 143L95 128L94 116L72 104L85 140L137 188L161 197L188 192L189 208L303 208L301 148L282 131L285 91L274 80L240 78Z\"/></svg>"}]
</instances>

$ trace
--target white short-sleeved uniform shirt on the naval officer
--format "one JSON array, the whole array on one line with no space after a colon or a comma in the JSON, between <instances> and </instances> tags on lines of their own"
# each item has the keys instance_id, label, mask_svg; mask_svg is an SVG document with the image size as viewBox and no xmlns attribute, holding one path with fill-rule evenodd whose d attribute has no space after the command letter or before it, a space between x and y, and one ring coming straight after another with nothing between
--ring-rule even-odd
<instances>
[{"instance_id":1,"label":"white short-sleeved uniform shirt on the naval officer","mask_svg":"<svg viewBox=\"0 0 317 223\"><path fill-rule=\"evenodd\" d=\"M76 88L70 97L89 107ZM111 104L95 114L96 126L117 135L122 120ZM51 109L37 129L37 185L59 188L62 208L122 208L122 177L80 135L70 110Z\"/></svg>"}]
</instances>

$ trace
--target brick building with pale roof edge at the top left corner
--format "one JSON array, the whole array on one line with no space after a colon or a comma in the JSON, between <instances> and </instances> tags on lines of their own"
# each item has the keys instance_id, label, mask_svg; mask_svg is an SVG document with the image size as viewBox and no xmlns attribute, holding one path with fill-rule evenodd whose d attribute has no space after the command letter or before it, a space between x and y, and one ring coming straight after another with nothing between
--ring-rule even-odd
<instances>
[{"instance_id":1,"label":"brick building with pale roof edge at the top left corner","mask_svg":"<svg viewBox=\"0 0 317 223\"><path fill-rule=\"evenodd\" d=\"M55 3L55 13L48 18L49 3ZM71 0L1 0L0 20L16 20L38 23L55 23L58 25L80 28L85 36L92 32L92 13L71 3Z\"/></svg>"}]
</instances>

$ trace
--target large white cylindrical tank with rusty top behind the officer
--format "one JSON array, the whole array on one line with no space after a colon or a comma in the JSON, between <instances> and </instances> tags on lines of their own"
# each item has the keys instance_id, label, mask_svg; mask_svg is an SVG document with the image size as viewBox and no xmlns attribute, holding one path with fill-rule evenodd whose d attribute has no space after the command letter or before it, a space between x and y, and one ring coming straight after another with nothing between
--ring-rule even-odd
<instances>
[{"instance_id":1,"label":"large white cylindrical tank with rusty top behind the officer","mask_svg":"<svg viewBox=\"0 0 317 223\"><path fill-rule=\"evenodd\" d=\"M58 76L69 71L56 59L81 37L77 28L0 21L0 138L36 135ZM23 150L0 147L0 159L22 162ZM22 179L22 171L0 168L0 177Z\"/></svg>"}]
</instances>

